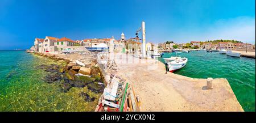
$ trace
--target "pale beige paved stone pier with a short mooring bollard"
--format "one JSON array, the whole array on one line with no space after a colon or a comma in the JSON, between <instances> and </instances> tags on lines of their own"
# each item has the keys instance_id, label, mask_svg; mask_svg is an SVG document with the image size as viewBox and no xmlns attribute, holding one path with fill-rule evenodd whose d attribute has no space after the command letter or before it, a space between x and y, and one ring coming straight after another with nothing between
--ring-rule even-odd
<instances>
[{"instance_id":1,"label":"pale beige paved stone pier with a short mooring bollard","mask_svg":"<svg viewBox=\"0 0 256 123\"><path fill-rule=\"evenodd\" d=\"M117 71L109 73L133 83L141 98L141 111L243 111L226 79L214 79L213 89L207 90L206 79L166 74L160 61L117 56Z\"/></svg>"}]
</instances>

